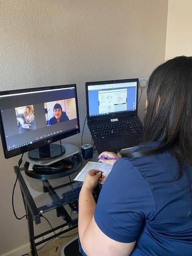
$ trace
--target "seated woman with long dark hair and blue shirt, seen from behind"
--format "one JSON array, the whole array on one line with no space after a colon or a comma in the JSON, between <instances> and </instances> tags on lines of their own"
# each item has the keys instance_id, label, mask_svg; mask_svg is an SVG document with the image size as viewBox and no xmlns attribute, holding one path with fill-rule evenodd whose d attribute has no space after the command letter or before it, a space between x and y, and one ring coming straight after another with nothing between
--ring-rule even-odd
<instances>
[{"instance_id":1,"label":"seated woman with long dark hair and blue shirt, seen from behind","mask_svg":"<svg viewBox=\"0 0 192 256\"><path fill-rule=\"evenodd\" d=\"M158 66L147 88L139 146L114 164L97 205L101 182L90 170L79 196L78 231L83 255L192 255L192 57Z\"/></svg>"}]
</instances>

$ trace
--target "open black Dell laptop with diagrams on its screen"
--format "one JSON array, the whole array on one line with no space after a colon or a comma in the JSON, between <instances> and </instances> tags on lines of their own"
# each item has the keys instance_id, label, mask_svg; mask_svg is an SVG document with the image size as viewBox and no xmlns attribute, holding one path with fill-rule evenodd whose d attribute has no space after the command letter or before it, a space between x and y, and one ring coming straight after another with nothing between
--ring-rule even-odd
<instances>
[{"instance_id":1,"label":"open black Dell laptop with diagrams on its screen","mask_svg":"<svg viewBox=\"0 0 192 256\"><path fill-rule=\"evenodd\" d=\"M143 126L138 117L138 78L86 82L88 128L98 154L136 146Z\"/></svg>"}]
</instances>

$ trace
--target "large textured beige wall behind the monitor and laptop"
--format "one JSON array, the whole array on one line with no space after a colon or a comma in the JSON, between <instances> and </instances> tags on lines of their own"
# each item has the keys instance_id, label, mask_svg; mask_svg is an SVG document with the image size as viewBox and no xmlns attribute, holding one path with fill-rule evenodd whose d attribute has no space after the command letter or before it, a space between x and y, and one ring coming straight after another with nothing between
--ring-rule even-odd
<instances>
[{"instance_id":1,"label":"large textured beige wall behind the monitor and laptop","mask_svg":"<svg viewBox=\"0 0 192 256\"><path fill-rule=\"evenodd\" d=\"M149 76L165 58L168 0L2 0L0 8L0 90L76 83L81 127L86 81ZM90 142L87 127L85 134ZM80 146L80 139L65 142ZM0 144L0 255L28 242L26 220L16 220L11 206L18 159L5 160ZM18 187L15 205L21 216ZM62 223L53 212L48 218ZM49 228L42 222L36 232Z\"/></svg>"}]
</instances>

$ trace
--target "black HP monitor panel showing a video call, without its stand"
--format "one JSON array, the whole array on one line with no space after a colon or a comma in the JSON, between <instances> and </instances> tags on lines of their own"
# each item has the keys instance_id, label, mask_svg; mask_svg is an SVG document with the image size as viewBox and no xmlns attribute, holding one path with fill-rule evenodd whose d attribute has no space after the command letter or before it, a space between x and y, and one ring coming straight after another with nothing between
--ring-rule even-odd
<instances>
[{"instance_id":1,"label":"black HP monitor panel showing a video call, without its stand","mask_svg":"<svg viewBox=\"0 0 192 256\"><path fill-rule=\"evenodd\" d=\"M6 158L80 132L76 84L0 92Z\"/></svg>"}]
</instances>

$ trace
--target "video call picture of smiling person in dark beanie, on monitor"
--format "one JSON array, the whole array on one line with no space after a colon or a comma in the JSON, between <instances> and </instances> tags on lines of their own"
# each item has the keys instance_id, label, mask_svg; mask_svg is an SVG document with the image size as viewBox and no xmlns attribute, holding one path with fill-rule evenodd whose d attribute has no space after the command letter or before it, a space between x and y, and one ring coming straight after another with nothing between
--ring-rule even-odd
<instances>
[{"instance_id":1,"label":"video call picture of smiling person in dark beanie, on monitor","mask_svg":"<svg viewBox=\"0 0 192 256\"><path fill-rule=\"evenodd\" d=\"M46 102L44 108L47 126L77 118L75 98Z\"/></svg>"}]
</instances>

